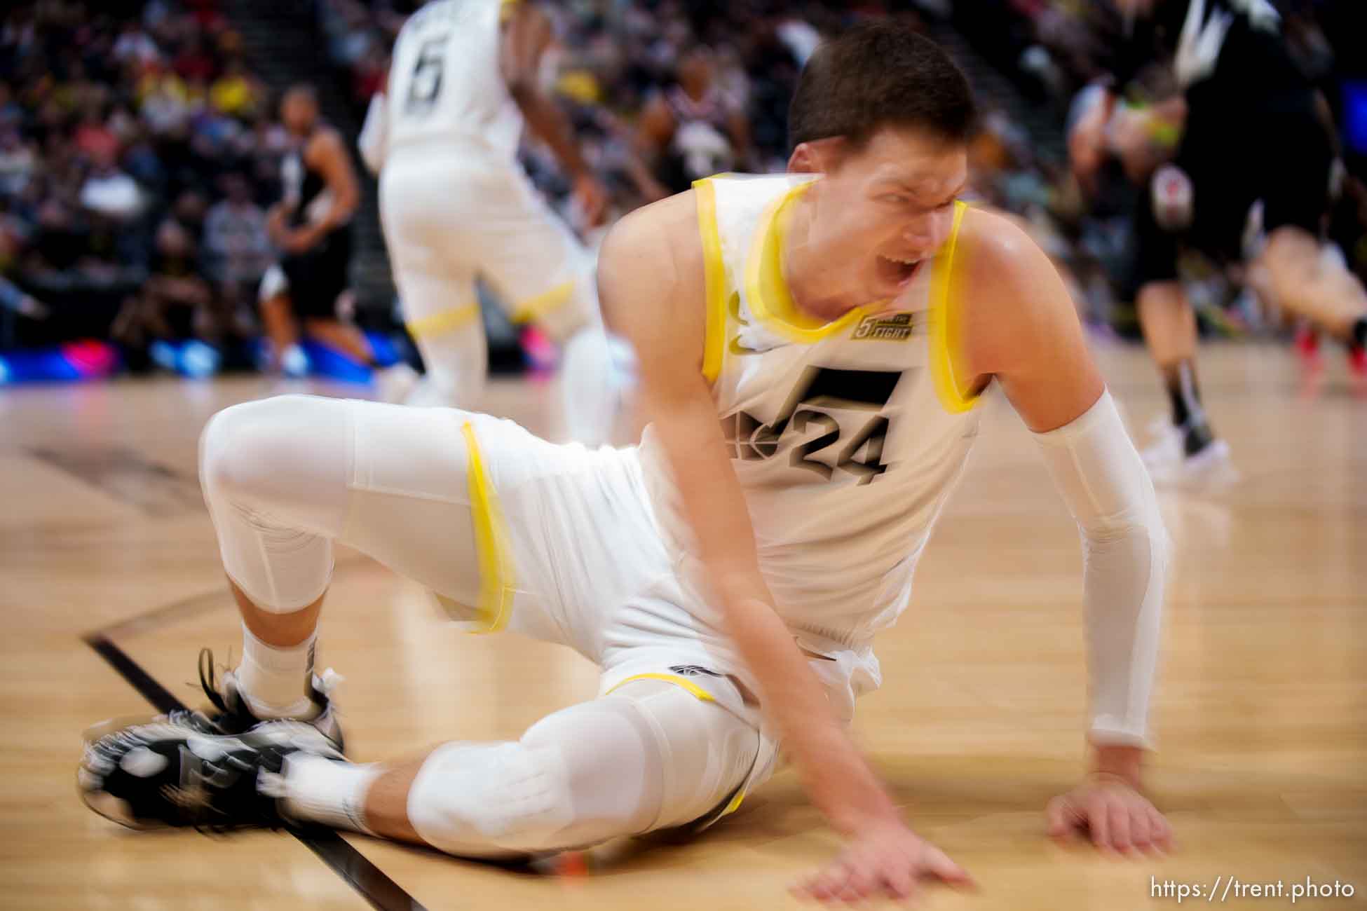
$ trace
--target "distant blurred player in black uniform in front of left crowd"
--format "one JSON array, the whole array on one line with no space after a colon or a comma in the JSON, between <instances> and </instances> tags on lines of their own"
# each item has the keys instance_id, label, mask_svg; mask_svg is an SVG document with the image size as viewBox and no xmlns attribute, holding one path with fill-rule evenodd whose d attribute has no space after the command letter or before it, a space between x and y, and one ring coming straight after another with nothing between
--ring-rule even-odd
<instances>
[{"instance_id":1,"label":"distant blurred player in black uniform in front of left crowd","mask_svg":"<svg viewBox=\"0 0 1367 911\"><path fill-rule=\"evenodd\" d=\"M308 373L308 356L298 344L299 324L306 335L373 365L365 335L338 317L338 298L347 290L351 269L351 216L361 198L346 145L320 119L312 86L286 92L280 119L298 146L282 163L284 198L267 214L267 231L283 255L261 279L265 367L290 376ZM401 365L391 381L407 372Z\"/></svg>"}]
</instances>

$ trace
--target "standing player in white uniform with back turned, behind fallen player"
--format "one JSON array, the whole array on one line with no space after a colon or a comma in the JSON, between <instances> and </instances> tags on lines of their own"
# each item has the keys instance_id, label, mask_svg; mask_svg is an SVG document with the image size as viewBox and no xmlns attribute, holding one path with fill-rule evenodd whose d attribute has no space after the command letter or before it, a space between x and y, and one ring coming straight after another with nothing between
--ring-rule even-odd
<instances>
[{"instance_id":1,"label":"standing player in white uniform with back turned, behind fallen player","mask_svg":"<svg viewBox=\"0 0 1367 911\"><path fill-rule=\"evenodd\" d=\"M427 377L409 404L478 404L488 351L474 280L514 322L536 322L563 346L574 436L601 441L615 408L593 258L517 163L524 123L574 182L588 221L607 193L589 172L569 122L540 89L551 41L545 14L514 0L437 0L403 25L388 94L361 134L380 175L380 214L403 316ZM596 410L596 411L595 411Z\"/></svg>"}]
</instances>

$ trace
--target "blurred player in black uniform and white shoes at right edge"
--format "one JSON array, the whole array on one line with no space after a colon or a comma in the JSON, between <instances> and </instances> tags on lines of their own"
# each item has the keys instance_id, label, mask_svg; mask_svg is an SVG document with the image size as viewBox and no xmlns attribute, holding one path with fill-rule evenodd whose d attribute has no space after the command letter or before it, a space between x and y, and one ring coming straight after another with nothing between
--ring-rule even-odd
<instances>
[{"instance_id":1,"label":"blurred player in black uniform and white shoes at right edge","mask_svg":"<svg viewBox=\"0 0 1367 911\"><path fill-rule=\"evenodd\" d=\"M1155 53L1170 53L1185 130L1177 157L1140 194L1132 291L1148 351L1172 400L1172 425L1144 451L1155 481L1230 481L1229 447L1211 429L1196 381L1196 316L1177 276L1178 250L1239 262L1255 201L1267 243L1249 265L1259 291L1349 347L1367 369L1367 292L1341 261L1321 255L1330 205L1331 128L1292 59L1267 0L1118 0L1133 36L1115 86ZM1166 46L1176 44L1176 46ZM1165 105L1152 105L1161 111ZM1074 169L1095 173L1114 135L1105 94L1069 139Z\"/></svg>"}]
</instances>

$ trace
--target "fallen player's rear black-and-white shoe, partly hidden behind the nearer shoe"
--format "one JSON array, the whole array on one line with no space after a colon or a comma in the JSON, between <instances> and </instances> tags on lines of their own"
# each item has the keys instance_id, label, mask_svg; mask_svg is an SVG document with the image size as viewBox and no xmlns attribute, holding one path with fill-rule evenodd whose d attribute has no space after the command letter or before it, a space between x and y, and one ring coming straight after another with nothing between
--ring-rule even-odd
<instances>
[{"instance_id":1,"label":"fallen player's rear black-and-white shoe, partly hidden behind the nearer shoe","mask_svg":"<svg viewBox=\"0 0 1367 911\"><path fill-rule=\"evenodd\" d=\"M331 692L340 682L342 676L332 668L324 671L321 676L313 675L306 694L309 702L313 703L313 710L305 718L293 718L293 721L313 727L338 753L342 753L344 740ZM176 728L185 731L187 736L236 736L279 721L258 718L252 713L238 687L236 676L231 671L226 671L221 680L217 677L213 651L209 649L200 650L200 687L211 703L204 709L172 709L153 717L109 718L87 728L85 742L89 746L119 731L144 725Z\"/></svg>"}]
</instances>

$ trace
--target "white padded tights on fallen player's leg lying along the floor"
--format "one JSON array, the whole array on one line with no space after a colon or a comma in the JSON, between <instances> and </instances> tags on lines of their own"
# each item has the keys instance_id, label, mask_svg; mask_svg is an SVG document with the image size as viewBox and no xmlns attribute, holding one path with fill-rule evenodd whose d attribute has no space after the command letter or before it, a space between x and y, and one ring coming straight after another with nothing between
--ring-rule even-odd
<instances>
[{"instance_id":1,"label":"white padded tights on fallen player's leg lying along the floor","mask_svg":"<svg viewBox=\"0 0 1367 911\"><path fill-rule=\"evenodd\" d=\"M409 821L428 844L478 858L678 825L734 789L756 739L715 703L632 683L556 712L518 743L439 747L409 791Z\"/></svg>"}]
</instances>

